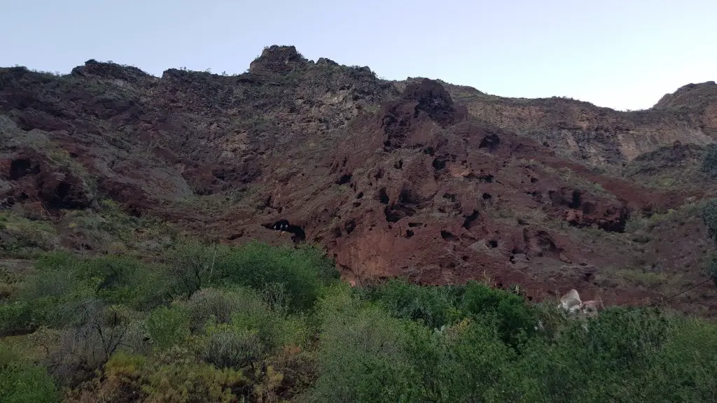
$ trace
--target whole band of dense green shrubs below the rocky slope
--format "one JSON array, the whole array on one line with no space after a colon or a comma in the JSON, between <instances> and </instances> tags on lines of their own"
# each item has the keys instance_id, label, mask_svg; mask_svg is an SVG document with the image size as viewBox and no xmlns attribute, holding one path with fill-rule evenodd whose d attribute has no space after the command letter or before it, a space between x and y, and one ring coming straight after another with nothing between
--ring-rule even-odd
<instances>
[{"instance_id":1,"label":"whole band of dense green shrubs below the rocky slope","mask_svg":"<svg viewBox=\"0 0 717 403\"><path fill-rule=\"evenodd\" d=\"M0 333L0 402L717 401L715 323L579 318L480 283L352 289L309 247L47 252Z\"/></svg>"}]
</instances>

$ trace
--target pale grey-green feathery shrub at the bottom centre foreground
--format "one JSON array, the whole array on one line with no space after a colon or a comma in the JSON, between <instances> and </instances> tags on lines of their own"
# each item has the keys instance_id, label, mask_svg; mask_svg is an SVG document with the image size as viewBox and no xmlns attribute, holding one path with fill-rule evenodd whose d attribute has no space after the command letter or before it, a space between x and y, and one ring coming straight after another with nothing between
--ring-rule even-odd
<instances>
[{"instance_id":1,"label":"pale grey-green feathery shrub at the bottom centre foreground","mask_svg":"<svg viewBox=\"0 0 717 403\"><path fill-rule=\"evenodd\" d=\"M404 321L343 291L322 300L320 374L311 402L409 402L416 374L404 343Z\"/></svg>"}]
</instances>

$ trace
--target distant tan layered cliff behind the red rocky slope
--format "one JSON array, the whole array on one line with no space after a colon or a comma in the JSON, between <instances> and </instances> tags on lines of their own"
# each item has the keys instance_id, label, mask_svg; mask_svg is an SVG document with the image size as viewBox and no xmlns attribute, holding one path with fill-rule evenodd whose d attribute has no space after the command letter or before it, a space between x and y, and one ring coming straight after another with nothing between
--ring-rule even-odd
<instances>
[{"instance_id":1,"label":"distant tan layered cliff behind the red rocky slope","mask_svg":"<svg viewBox=\"0 0 717 403\"><path fill-rule=\"evenodd\" d=\"M675 141L705 145L717 137L714 82L682 87L655 108L633 112L566 98L500 98L471 87L447 87L476 118L612 173L640 154Z\"/></svg>"}]
</instances>

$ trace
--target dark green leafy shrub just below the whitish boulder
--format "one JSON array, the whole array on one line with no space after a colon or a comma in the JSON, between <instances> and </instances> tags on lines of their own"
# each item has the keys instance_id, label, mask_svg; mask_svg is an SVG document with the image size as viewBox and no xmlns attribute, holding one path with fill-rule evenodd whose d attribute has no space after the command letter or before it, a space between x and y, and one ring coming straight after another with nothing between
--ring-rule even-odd
<instances>
[{"instance_id":1,"label":"dark green leafy shrub just below the whitish boulder","mask_svg":"<svg viewBox=\"0 0 717 403\"><path fill-rule=\"evenodd\" d=\"M521 402L669 401L645 398L645 388L660 388L645 376L672 334L654 310L608 308L597 318L564 319L554 340L527 341L505 390L520 391Z\"/></svg>"}]
</instances>

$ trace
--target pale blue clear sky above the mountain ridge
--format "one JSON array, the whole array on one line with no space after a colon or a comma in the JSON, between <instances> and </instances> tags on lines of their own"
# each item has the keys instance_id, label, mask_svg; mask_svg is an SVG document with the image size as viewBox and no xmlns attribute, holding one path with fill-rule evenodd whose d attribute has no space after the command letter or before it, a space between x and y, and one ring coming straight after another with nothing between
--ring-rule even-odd
<instances>
[{"instance_id":1,"label":"pale blue clear sky above the mountain ridge","mask_svg":"<svg viewBox=\"0 0 717 403\"><path fill-rule=\"evenodd\" d=\"M0 0L0 66L240 73L266 46L505 97L650 108L717 80L716 0Z\"/></svg>"}]
</instances>

